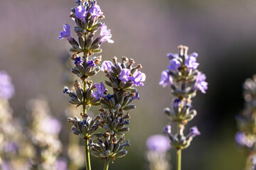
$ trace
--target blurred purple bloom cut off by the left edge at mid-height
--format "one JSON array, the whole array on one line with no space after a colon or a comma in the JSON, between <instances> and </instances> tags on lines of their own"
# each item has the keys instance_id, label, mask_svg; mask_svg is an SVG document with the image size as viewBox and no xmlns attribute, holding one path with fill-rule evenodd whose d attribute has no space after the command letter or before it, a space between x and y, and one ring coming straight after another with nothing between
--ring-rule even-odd
<instances>
[{"instance_id":1,"label":"blurred purple bloom cut off by the left edge at mid-height","mask_svg":"<svg viewBox=\"0 0 256 170\"><path fill-rule=\"evenodd\" d=\"M0 98L9 99L14 95L14 85L11 77L5 72L0 71Z\"/></svg>"}]
</instances>

